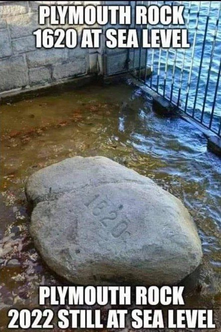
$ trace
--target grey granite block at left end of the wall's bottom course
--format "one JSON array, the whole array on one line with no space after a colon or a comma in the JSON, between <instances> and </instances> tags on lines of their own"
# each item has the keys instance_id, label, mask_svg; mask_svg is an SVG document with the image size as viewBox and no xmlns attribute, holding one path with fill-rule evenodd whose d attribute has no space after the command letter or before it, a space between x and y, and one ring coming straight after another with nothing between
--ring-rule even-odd
<instances>
[{"instance_id":1,"label":"grey granite block at left end of the wall's bottom course","mask_svg":"<svg viewBox=\"0 0 221 332\"><path fill-rule=\"evenodd\" d=\"M22 55L0 60L0 91L11 90L27 84L27 67Z\"/></svg>"}]
</instances>

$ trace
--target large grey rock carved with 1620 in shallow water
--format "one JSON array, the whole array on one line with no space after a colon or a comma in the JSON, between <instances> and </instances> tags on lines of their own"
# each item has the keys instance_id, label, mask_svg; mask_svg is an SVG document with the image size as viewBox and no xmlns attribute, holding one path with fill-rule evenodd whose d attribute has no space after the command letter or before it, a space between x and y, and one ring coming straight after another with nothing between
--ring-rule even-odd
<instances>
[{"instance_id":1,"label":"large grey rock carved with 1620 in shallow water","mask_svg":"<svg viewBox=\"0 0 221 332\"><path fill-rule=\"evenodd\" d=\"M47 265L76 284L175 284L200 264L201 242L181 201L104 157L34 173L30 233Z\"/></svg>"}]
</instances>

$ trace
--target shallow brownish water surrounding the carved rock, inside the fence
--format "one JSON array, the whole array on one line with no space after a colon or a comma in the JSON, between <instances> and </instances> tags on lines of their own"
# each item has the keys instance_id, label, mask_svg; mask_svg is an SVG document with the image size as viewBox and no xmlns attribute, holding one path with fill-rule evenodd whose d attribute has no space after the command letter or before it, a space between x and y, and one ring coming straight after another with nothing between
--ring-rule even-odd
<instances>
[{"instance_id":1,"label":"shallow brownish water surrounding the carved rock, inside the fence","mask_svg":"<svg viewBox=\"0 0 221 332\"><path fill-rule=\"evenodd\" d=\"M189 308L221 308L221 161L180 118L158 117L129 84L88 86L1 106L0 327L9 308L36 307L37 287L60 285L28 235L27 177L76 155L102 155L151 177L180 198L203 244L184 284Z\"/></svg>"}]
</instances>

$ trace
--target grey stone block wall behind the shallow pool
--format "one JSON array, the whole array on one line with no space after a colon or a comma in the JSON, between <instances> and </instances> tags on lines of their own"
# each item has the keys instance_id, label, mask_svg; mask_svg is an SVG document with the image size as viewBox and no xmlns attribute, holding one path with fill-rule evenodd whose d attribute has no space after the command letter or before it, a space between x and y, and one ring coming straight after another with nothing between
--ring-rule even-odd
<instances>
[{"instance_id":1,"label":"grey stone block wall behind the shallow pool","mask_svg":"<svg viewBox=\"0 0 221 332\"><path fill-rule=\"evenodd\" d=\"M99 49L36 49L33 31L39 27L50 27L48 24L38 25L38 6L61 2L83 5L131 4L133 10L135 2L146 1L0 1L0 96L63 82L87 73L111 75L145 65L145 50L141 51L139 62L139 50L108 49L104 46L104 36ZM79 34L83 27L74 26ZM111 26L103 27L103 35L107 27Z\"/></svg>"}]
</instances>

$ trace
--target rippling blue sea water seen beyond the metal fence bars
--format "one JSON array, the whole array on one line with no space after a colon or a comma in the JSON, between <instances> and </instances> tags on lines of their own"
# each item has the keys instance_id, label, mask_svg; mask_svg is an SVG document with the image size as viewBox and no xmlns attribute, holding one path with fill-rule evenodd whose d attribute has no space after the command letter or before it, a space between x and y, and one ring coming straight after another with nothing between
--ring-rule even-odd
<instances>
[{"instance_id":1,"label":"rippling blue sea water seen beyond the metal fence bars","mask_svg":"<svg viewBox=\"0 0 221 332\"><path fill-rule=\"evenodd\" d=\"M163 1L159 1L163 2ZM175 2L175 1L167 1L167 2ZM218 72L221 63L221 14L219 15L219 9L221 5L221 1L176 1L176 2L183 2L185 5L185 18L186 18L186 27L189 31L189 42L191 43L191 48L186 49L170 49L162 50L154 50L154 75L152 84L156 88L157 86L157 72L158 72L158 64L160 59L160 66L159 66L159 91L163 93L164 90L164 77L165 77L165 66L166 66L166 59L168 56L168 67L167 67L167 83L166 83L166 95L170 97L171 95L171 86L173 81L173 70L174 71L174 85L173 85L173 100L178 99L179 95L179 86L180 81L182 80L181 85L181 96L180 96L180 105L181 107L185 108L186 103L186 94L187 94L187 86L188 86L188 79L190 75L190 67L191 67L191 59L193 55L193 43L194 43L194 35L196 30L196 20L197 20L197 12L199 3L201 2L200 7L200 15L199 15L199 24L198 24L198 32L196 38L196 47L195 52L193 55L193 69L191 74L191 84L190 84L190 92L187 104L187 112L192 114L195 96L196 96L196 87L197 81L199 76L199 67L201 62L202 56L202 49L203 49L203 40L204 34L206 29L206 21L207 15L209 12L210 4L210 15L209 15L209 23L208 23L208 31L206 37L206 44L204 50L204 57L202 62L202 71L200 75L200 84L199 84L199 92L197 95L197 103L196 103L196 117L198 119L201 118L201 111L203 108L204 97L205 97L205 90L206 84L208 80L208 70L211 61L211 54L213 49L213 39L215 33L216 22L219 19L218 25L218 33L216 38L216 43L214 47L214 54L213 60L211 63L211 73L209 78L209 85L208 85L208 92L205 104L205 116L204 116L204 124L209 125L210 123L210 116L209 114L212 111L213 103L214 103L214 94L216 89L216 84L218 81ZM191 5L190 5L191 2ZM188 9L190 6L190 19L188 19ZM149 51L148 55L148 65L151 65L153 52L152 50ZM183 66L183 59L184 67L183 67L183 74L182 66ZM175 63L175 67L174 67ZM181 79L182 78L182 79ZM218 94L217 94L217 101L215 104L214 109L214 120L212 123L212 129L216 132L219 130L219 125L221 121L221 82L219 84Z\"/></svg>"}]
</instances>

